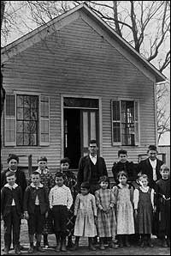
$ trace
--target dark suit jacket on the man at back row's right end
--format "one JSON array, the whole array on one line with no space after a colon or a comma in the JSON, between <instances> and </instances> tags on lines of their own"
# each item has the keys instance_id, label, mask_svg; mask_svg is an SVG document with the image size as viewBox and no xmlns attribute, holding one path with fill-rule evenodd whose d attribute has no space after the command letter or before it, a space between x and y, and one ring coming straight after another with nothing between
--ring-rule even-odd
<instances>
[{"instance_id":1,"label":"dark suit jacket on the man at back row's right end","mask_svg":"<svg viewBox=\"0 0 171 256\"><path fill-rule=\"evenodd\" d=\"M162 178L162 176L160 174L160 168L161 168L162 164L163 164L163 162L156 158L156 180L159 180ZM138 174L139 173L146 174L149 178L149 186L153 187L154 189L156 188L156 182L153 180L153 169L150 165L149 158L139 162Z\"/></svg>"}]
</instances>

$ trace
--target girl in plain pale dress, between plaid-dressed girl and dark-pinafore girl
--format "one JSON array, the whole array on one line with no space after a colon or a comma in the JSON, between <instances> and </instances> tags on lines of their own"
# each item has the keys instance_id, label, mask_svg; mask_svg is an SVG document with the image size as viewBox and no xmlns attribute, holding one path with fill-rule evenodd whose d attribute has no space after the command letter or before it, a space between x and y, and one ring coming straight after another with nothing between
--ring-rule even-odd
<instances>
[{"instance_id":1,"label":"girl in plain pale dress, between plaid-dressed girl and dark-pinafore girl","mask_svg":"<svg viewBox=\"0 0 171 256\"><path fill-rule=\"evenodd\" d=\"M127 174L121 171L117 175L119 184L113 187L116 198L116 222L119 246L123 247L125 238L126 247L130 247L128 235L134 234L133 220L133 187L127 184Z\"/></svg>"}]
</instances>

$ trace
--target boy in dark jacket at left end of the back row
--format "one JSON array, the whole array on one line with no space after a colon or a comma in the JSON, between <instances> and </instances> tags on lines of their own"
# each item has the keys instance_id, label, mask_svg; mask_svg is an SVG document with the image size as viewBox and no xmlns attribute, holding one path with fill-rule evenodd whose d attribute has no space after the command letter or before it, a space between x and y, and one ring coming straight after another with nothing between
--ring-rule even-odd
<instances>
[{"instance_id":1,"label":"boy in dark jacket at left end of the back row","mask_svg":"<svg viewBox=\"0 0 171 256\"><path fill-rule=\"evenodd\" d=\"M3 170L3 172L1 173L1 189L7 183L6 173L11 171L15 173L15 178L16 178L15 183L18 186L21 186L22 196L24 196L25 189L27 188L27 179L26 179L25 173L18 168L18 163L19 163L18 155L9 154L7 162L9 164L9 168L7 168L6 170ZM24 247L20 245L20 249L23 250Z\"/></svg>"}]
</instances>

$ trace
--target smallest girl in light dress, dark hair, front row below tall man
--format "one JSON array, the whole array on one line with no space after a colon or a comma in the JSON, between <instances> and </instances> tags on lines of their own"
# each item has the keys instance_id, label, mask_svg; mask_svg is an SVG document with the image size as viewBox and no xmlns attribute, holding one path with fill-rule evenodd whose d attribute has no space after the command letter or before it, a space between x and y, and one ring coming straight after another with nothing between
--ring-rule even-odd
<instances>
[{"instance_id":1,"label":"smallest girl in light dress, dark hair, front row below tall man","mask_svg":"<svg viewBox=\"0 0 171 256\"><path fill-rule=\"evenodd\" d=\"M88 237L89 249L95 251L92 245L92 237L97 235L95 222L97 220L97 207L95 196L90 193L90 184L83 182L80 192L74 204L74 216L76 217L74 226L75 243L73 249L79 247L80 236Z\"/></svg>"}]
</instances>

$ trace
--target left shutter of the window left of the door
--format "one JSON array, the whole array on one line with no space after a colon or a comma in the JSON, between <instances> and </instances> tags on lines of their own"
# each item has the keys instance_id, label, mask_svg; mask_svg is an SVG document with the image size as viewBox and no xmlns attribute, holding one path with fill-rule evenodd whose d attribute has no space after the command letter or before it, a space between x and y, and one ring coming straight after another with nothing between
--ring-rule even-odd
<instances>
[{"instance_id":1,"label":"left shutter of the window left of the door","mask_svg":"<svg viewBox=\"0 0 171 256\"><path fill-rule=\"evenodd\" d=\"M6 94L4 109L4 145L16 145L15 94Z\"/></svg>"}]
</instances>

